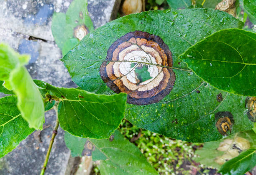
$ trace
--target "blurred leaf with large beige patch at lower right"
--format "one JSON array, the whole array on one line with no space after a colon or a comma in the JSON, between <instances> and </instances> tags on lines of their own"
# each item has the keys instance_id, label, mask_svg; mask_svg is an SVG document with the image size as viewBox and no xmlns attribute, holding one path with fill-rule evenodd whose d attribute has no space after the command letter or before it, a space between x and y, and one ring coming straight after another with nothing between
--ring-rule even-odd
<instances>
[{"instance_id":1,"label":"blurred leaf with large beige patch at lower right","mask_svg":"<svg viewBox=\"0 0 256 175\"><path fill-rule=\"evenodd\" d=\"M195 154L198 156L195 161L219 169L225 162L249 148L256 148L256 134L253 130L205 143L202 149L196 150Z\"/></svg>"}]
</instances>

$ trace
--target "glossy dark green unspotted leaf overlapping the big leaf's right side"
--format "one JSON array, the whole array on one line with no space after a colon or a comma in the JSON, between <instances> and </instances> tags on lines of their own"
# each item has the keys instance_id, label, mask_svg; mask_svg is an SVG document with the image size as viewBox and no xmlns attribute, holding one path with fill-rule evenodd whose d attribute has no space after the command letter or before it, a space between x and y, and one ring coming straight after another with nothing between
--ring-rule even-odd
<instances>
[{"instance_id":1,"label":"glossy dark green unspotted leaf overlapping the big leaf's right side","mask_svg":"<svg viewBox=\"0 0 256 175\"><path fill-rule=\"evenodd\" d=\"M255 33L228 29L193 45L180 58L198 76L218 89L256 96L255 48Z\"/></svg>"}]
</instances>

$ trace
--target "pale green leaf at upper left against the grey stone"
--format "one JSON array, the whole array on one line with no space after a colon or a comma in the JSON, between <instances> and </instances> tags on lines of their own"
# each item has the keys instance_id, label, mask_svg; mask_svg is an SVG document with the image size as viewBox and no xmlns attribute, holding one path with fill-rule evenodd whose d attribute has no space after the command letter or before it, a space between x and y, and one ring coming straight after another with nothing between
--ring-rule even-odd
<instances>
[{"instance_id":1,"label":"pale green leaf at upper left against the grey stone","mask_svg":"<svg viewBox=\"0 0 256 175\"><path fill-rule=\"evenodd\" d=\"M66 15L54 13L51 31L62 55L72 49L79 40L75 36L75 28L85 25L87 32L93 30L93 24L87 10L87 0L74 0L69 5Z\"/></svg>"}]
</instances>

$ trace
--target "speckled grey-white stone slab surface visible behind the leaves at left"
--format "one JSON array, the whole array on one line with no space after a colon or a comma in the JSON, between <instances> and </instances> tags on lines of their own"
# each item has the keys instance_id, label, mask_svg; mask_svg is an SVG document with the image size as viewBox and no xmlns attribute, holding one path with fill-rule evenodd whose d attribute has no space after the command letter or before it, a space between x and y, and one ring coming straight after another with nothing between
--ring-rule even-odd
<instances>
[{"instance_id":1,"label":"speckled grey-white stone slab surface visible behind the leaves at left","mask_svg":"<svg viewBox=\"0 0 256 175\"><path fill-rule=\"evenodd\" d=\"M116 0L88 0L89 15L95 28L110 20ZM20 53L31 55L26 66L33 79L58 87L76 87L66 67L59 60L61 50L51 34L54 11L67 11L72 0L0 0L0 42ZM113 15L112 15L113 17ZM4 95L0 93L0 97ZM35 131L11 153L0 159L0 175L40 174L55 125L54 110L45 114L44 130ZM40 133L40 136L39 136ZM45 175L64 175L69 166L70 151L59 128ZM72 166L72 165L71 165Z\"/></svg>"}]
</instances>

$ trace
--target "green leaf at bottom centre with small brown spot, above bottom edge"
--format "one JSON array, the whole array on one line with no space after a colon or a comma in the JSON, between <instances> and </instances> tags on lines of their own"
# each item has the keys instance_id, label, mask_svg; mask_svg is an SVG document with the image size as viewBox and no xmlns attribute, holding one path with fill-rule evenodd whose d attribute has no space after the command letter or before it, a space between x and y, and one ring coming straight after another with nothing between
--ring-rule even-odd
<instances>
[{"instance_id":1,"label":"green leaf at bottom centre with small brown spot, above bottom edge","mask_svg":"<svg viewBox=\"0 0 256 175\"><path fill-rule=\"evenodd\" d=\"M84 140L68 133L65 133L65 138L66 144L68 140L73 140L84 146L83 155L92 155L93 160L100 160L101 175L158 175L141 151L118 130L110 139L87 139L85 145ZM68 143L67 147L71 153L77 152L75 145Z\"/></svg>"}]
</instances>

